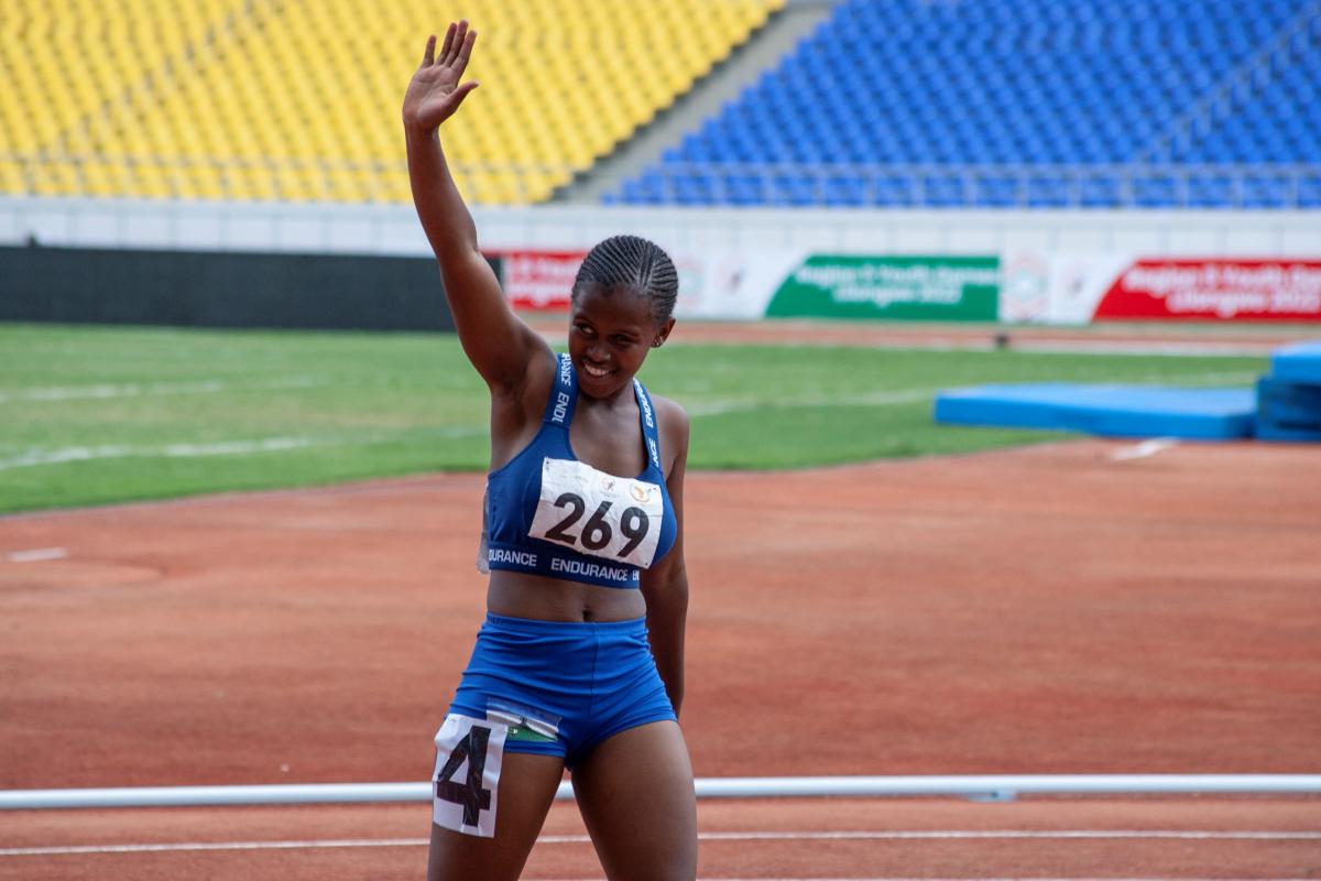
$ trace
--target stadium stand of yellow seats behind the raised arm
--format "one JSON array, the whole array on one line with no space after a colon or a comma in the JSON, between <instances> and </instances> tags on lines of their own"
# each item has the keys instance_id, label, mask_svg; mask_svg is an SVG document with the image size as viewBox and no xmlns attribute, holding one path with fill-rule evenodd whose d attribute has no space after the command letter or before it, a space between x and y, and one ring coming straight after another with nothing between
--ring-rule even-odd
<instances>
[{"instance_id":1,"label":"stadium stand of yellow seats behind the raised arm","mask_svg":"<svg viewBox=\"0 0 1321 881\"><path fill-rule=\"evenodd\" d=\"M460 188L544 201L782 4L464 4L483 88L446 141ZM399 103L439 15L425 0L7 0L0 193L407 201Z\"/></svg>"}]
</instances>

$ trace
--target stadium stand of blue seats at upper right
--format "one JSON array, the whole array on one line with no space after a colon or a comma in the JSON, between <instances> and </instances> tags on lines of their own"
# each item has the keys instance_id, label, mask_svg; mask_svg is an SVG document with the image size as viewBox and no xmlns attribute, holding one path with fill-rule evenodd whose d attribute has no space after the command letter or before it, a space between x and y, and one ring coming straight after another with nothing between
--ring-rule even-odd
<instances>
[{"instance_id":1,"label":"stadium stand of blue seats at upper right","mask_svg":"<svg viewBox=\"0 0 1321 881\"><path fill-rule=\"evenodd\" d=\"M606 202L1321 207L1321 3L845 0Z\"/></svg>"}]
</instances>

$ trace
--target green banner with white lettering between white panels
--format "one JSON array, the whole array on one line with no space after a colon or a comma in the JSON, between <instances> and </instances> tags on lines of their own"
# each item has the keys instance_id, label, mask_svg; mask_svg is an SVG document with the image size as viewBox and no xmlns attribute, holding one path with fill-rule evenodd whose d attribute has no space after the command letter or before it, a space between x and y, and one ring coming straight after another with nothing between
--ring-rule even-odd
<instances>
[{"instance_id":1,"label":"green banner with white lettering between white panels","mask_svg":"<svg viewBox=\"0 0 1321 881\"><path fill-rule=\"evenodd\" d=\"M814 254L781 283L768 316L995 321L999 256Z\"/></svg>"}]
</instances>

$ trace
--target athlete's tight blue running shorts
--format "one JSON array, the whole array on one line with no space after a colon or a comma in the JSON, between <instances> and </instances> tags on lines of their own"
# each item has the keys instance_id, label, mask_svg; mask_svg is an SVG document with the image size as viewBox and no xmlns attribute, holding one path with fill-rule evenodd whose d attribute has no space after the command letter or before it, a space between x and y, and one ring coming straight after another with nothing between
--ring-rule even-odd
<instances>
[{"instance_id":1,"label":"athlete's tight blue running shorts","mask_svg":"<svg viewBox=\"0 0 1321 881\"><path fill-rule=\"evenodd\" d=\"M506 753L559 756L571 770L613 734L676 721L646 618L563 622L487 613L449 712L503 722Z\"/></svg>"}]
</instances>

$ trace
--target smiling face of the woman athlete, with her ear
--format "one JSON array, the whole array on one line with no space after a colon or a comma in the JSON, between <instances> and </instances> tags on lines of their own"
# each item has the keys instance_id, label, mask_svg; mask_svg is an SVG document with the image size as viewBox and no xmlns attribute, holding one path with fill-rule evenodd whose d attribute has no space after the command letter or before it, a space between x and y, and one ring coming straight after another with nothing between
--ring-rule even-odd
<instances>
[{"instance_id":1,"label":"smiling face of the woman athlete, with her ear","mask_svg":"<svg viewBox=\"0 0 1321 881\"><path fill-rule=\"evenodd\" d=\"M580 289L569 316L569 358L579 387L592 398L617 395L672 328L674 318L657 325L645 293L600 285Z\"/></svg>"}]
</instances>

